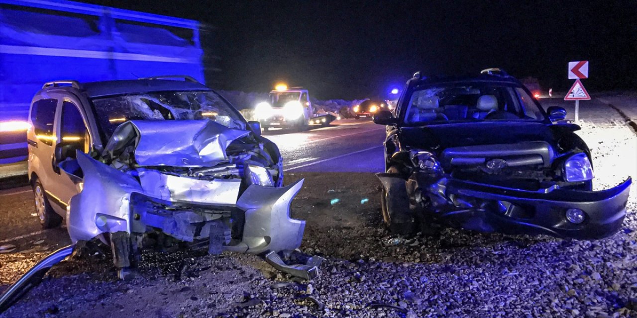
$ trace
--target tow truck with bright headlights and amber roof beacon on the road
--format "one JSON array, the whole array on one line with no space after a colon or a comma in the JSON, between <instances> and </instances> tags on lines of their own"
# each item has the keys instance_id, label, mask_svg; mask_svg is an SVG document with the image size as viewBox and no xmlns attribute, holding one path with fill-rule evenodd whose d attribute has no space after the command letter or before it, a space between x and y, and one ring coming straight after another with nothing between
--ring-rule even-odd
<instances>
[{"instance_id":1,"label":"tow truck with bright headlights and amber roof beacon on the road","mask_svg":"<svg viewBox=\"0 0 637 318\"><path fill-rule=\"evenodd\" d=\"M309 125L327 126L337 118L332 112L315 109L310 102L310 93L303 87L276 85L268 99L268 102L260 102L254 109L254 115L264 130L304 130Z\"/></svg>"}]
</instances>

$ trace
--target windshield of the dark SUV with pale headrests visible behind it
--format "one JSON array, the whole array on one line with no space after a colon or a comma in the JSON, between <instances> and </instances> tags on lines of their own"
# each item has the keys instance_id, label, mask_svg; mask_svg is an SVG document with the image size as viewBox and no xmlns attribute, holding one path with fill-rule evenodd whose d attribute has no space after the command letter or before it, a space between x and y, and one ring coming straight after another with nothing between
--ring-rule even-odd
<instances>
[{"instance_id":1,"label":"windshield of the dark SUV with pale headrests visible behind it","mask_svg":"<svg viewBox=\"0 0 637 318\"><path fill-rule=\"evenodd\" d=\"M540 106L520 87L448 83L416 87L404 112L407 124L445 121L543 120Z\"/></svg>"}]
</instances>

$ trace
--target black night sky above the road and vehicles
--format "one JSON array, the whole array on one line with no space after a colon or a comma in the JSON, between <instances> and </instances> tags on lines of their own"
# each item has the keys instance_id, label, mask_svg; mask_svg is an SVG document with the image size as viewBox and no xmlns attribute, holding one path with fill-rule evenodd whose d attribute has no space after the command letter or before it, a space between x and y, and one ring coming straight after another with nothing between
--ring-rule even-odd
<instances>
[{"instance_id":1,"label":"black night sky above the road and vehicles","mask_svg":"<svg viewBox=\"0 0 637 318\"><path fill-rule=\"evenodd\" d=\"M589 92L637 88L637 1L85 1L198 20L213 88L359 99L414 71L503 67L566 90L589 60ZM217 59L218 57L218 59ZM215 70L217 69L217 70Z\"/></svg>"}]
</instances>

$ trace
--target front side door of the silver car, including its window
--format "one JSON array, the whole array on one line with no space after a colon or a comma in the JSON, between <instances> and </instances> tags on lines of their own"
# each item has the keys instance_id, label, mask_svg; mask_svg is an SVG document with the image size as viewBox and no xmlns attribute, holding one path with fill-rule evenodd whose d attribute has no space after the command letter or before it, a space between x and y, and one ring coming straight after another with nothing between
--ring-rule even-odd
<instances>
[{"instance_id":1,"label":"front side door of the silver car, including its window","mask_svg":"<svg viewBox=\"0 0 637 318\"><path fill-rule=\"evenodd\" d=\"M78 178L74 174L79 170L76 160L76 151L89 153L91 148L91 137L87 128L86 117L77 106L76 100L65 97L62 100L59 115L60 138L56 141L54 149L54 173L56 187L55 198L60 207L66 211L71 197L78 193ZM64 165L64 169L60 169Z\"/></svg>"}]
</instances>

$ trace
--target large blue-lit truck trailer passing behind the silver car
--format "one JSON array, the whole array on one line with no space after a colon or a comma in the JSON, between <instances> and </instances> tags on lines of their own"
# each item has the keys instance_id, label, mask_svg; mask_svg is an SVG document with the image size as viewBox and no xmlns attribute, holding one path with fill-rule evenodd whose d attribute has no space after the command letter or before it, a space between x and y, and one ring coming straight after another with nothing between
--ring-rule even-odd
<instances>
[{"instance_id":1,"label":"large blue-lit truck trailer passing behind the silver car","mask_svg":"<svg viewBox=\"0 0 637 318\"><path fill-rule=\"evenodd\" d=\"M64 0L0 0L0 164L27 156L27 114L49 81L184 74L204 83L194 20Z\"/></svg>"}]
</instances>

